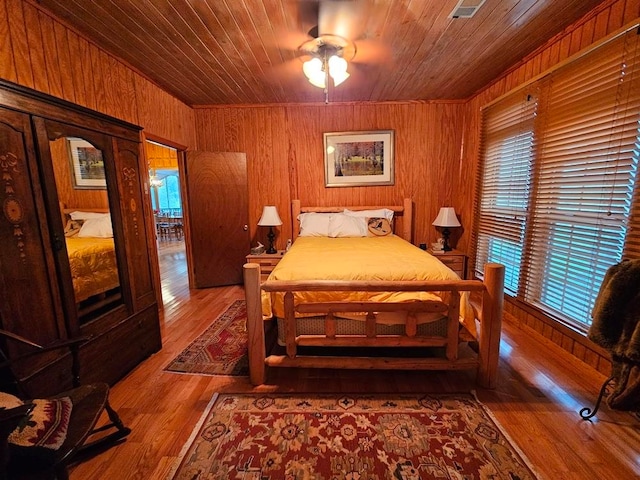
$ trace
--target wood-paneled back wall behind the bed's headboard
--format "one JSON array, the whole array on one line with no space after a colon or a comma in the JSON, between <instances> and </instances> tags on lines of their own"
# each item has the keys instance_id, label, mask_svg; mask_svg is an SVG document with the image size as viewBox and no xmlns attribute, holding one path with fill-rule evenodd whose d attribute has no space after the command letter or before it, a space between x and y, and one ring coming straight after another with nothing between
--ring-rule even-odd
<instances>
[{"instance_id":1,"label":"wood-paneled back wall behind the bed's headboard","mask_svg":"<svg viewBox=\"0 0 640 480\"><path fill-rule=\"evenodd\" d=\"M462 162L467 105L410 102L196 108L198 148L247 154L253 241L263 205L276 205L284 225L276 241L291 238L291 200L303 205L399 205L414 200L414 241L434 241L431 222L452 205L470 225L469 178ZM395 185L325 187L323 133L394 130ZM452 236L464 248L468 231Z\"/></svg>"}]
</instances>

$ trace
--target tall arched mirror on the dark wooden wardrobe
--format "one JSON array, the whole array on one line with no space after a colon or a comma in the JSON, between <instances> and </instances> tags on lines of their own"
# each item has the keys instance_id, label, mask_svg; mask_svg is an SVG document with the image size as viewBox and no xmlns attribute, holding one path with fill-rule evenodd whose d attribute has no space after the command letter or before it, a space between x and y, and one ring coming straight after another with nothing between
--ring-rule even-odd
<instances>
[{"instance_id":1,"label":"tall arched mirror on the dark wooden wardrobe","mask_svg":"<svg viewBox=\"0 0 640 480\"><path fill-rule=\"evenodd\" d=\"M122 303L105 152L70 136L50 141L49 147L66 260L78 318L85 323Z\"/></svg>"}]
</instances>

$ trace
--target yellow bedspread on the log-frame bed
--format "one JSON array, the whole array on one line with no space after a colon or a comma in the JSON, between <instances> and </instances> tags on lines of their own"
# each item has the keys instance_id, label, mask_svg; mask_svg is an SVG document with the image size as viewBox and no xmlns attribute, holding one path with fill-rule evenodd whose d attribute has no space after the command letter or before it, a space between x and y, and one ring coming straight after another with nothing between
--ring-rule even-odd
<instances>
[{"instance_id":1,"label":"yellow bedspread on the log-frame bed","mask_svg":"<svg viewBox=\"0 0 640 480\"><path fill-rule=\"evenodd\" d=\"M273 269L269 280L459 280L436 257L395 235L384 237L299 237ZM461 316L473 324L468 296ZM438 300L435 292L299 292L296 302ZM283 295L263 294L265 317L284 317ZM273 312L273 313L272 313ZM423 321L432 321L435 318ZM395 323L390 319L387 322ZM387 323L384 322L384 323Z\"/></svg>"}]
</instances>

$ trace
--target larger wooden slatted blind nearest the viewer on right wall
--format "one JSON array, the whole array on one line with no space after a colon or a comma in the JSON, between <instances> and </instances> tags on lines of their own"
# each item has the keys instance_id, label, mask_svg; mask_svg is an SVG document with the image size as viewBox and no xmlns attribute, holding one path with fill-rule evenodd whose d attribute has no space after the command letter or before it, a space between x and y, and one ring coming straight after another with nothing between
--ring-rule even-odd
<instances>
[{"instance_id":1,"label":"larger wooden slatted blind nearest the viewer on right wall","mask_svg":"<svg viewBox=\"0 0 640 480\"><path fill-rule=\"evenodd\" d=\"M628 33L551 75L538 118L524 297L587 325L624 249L638 163L638 38Z\"/></svg>"}]
</instances>

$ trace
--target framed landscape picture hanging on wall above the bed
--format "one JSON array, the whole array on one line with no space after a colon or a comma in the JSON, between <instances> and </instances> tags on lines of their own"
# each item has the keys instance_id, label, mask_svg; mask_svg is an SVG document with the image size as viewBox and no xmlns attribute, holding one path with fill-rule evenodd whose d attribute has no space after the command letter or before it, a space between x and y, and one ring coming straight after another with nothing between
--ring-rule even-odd
<instances>
[{"instance_id":1,"label":"framed landscape picture hanging on wall above the bed","mask_svg":"<svg viewBox=\"0 0 640 480\"><path fill-rule=\"evenodd\" d=\"M393 130L324 134L327 187L393 185Z\"/></svg>"}]
</instances>

